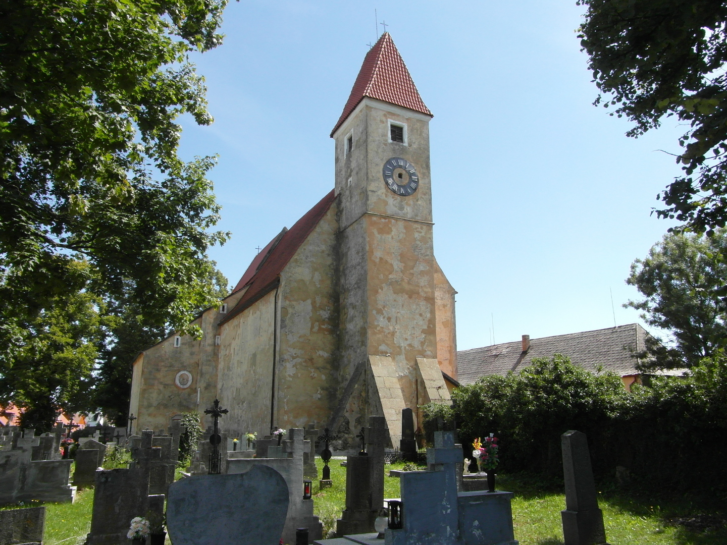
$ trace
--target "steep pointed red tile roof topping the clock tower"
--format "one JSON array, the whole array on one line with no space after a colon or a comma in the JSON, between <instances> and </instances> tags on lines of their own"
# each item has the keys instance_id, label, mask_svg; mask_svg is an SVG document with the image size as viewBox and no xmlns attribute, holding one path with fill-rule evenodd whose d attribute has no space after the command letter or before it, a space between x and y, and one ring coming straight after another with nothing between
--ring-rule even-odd
<instances>
[{"instance_id":1,"label":"steep pointed red tile roof topping the clock tower","mask_svg":"<svg viewBox=\"0 0 727 545\"><path fill-rule=\"evenodd\" d=\"M379 41L371 47L364 58L364 64L358 72L356 83L343 108L343 113L334 126L331 136L356 109L364 97L371 97L390 102L403 108L409 108L431 116L432 113L419 96L417 86L411 79L398 49L389 33L382 34Z\"/></svg>"}]
</instances>

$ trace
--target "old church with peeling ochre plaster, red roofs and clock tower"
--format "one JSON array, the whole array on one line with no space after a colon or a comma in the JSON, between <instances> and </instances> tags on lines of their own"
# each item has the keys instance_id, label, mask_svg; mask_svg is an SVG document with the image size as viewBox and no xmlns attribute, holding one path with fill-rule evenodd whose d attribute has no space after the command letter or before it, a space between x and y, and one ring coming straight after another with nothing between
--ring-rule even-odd
<instances>
[{"instance_id":1,"label":"old church with peeling ochre plaster, red roofs and clock tower","mask_svg":"<svg viewBox=\"0 0 727 545\"><path fill-rule=\"evenodd\" d=\"M403 408L451 403L456 291L434 258L431 118L384 33L331 133L334 189L198 315L201 339L172 335L140 353L134 430L217 398L232 437L316 423L347 450L375 415L398 447Z\"/></svg>"}]
</instances>

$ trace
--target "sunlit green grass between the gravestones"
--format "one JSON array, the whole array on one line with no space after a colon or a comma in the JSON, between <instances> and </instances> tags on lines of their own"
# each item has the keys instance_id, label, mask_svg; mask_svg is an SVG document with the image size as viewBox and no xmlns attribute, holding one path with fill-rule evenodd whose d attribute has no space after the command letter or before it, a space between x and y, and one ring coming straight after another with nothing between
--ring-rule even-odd
<instances>
[{"instance_id":1,"label":"sunlit green grass between the gravestones","mask_svg":"<svg viewBox=\"0 0 727 545\"><path fill-rule=\"evenodd\" d=\"M332 488L320 491L318 483L313 484L316 514L324 524L324 535L335 528L336 519L345 506L346 474L340 462L332 460L330 464ZM323 464L320 459L316 459L316 463L320 475ZM386 475L389 469L401 467L402 464L387 466ZM562 493L543 492L542 489L547 486L507 475L498 475L497 488L515 492L515 538L521 545L563 544L561 509L565 507L565 498ZM385 497L399 497L398 479L385 477ZM36 502L33 504L37 505ZM89 531L92 504L92 490L78 493L74 504L46 504L45 545L81 545ZM648 496L604 491L600 504L606 521L606 536L611 545L727 544L724 513L681 493L656 500ZM675 517L680 517L684 524L668 522ZM686 524L694 525L696 530L688 530ZM710 529L710 525L721 528Z\"/></svg>"}]
</instances>

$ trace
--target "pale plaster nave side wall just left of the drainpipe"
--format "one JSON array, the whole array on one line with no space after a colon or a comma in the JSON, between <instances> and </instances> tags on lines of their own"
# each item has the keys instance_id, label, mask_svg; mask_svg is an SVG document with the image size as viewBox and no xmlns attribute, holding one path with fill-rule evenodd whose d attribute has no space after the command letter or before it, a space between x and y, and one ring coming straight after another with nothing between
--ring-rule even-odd
<instances>
[{"instance_id":1,"label":"pale plaster nave side wall just left of the drainpipe","mask_svg":"<svg viewBox=\"0 0 727 545\"><path fill-rule=\"evenodd\" d=\"M270 433L276 294L270 291L220 326L217 396L230 411L220 419L220 427L233 437Z\"/></svg>"}]
</instances>

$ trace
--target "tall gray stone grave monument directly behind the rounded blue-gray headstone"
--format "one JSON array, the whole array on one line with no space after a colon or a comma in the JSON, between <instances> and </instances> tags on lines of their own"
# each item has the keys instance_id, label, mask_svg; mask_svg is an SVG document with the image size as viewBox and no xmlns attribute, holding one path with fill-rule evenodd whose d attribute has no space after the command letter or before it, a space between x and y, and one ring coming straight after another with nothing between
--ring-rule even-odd
<instances>
[{"instance_id":1,"label":"tall gray stone grave monument directly behind the rounded blue-gray headstone","mask_svg":"<svg viewBox=\"0 0 727 545\"><path fill-rule=\"evenodd\" d=\"M305 440L305 429L288 430L288 440L279 448L270 447L268 452L280 456L253 459L230 459L228 473L243 473L251 467L264 465L283 475L290 491L288 514L283 528L283 541L295 542L295 529L308 528L311 539L322 537L323 525L313 514L313 499L303 499L303 453L310 450L310 442ZM277 440L276 440L277 443ZM281 450L279 450L281 449Z\"/></svg>"}]
</instances>

